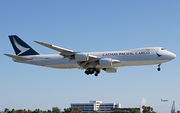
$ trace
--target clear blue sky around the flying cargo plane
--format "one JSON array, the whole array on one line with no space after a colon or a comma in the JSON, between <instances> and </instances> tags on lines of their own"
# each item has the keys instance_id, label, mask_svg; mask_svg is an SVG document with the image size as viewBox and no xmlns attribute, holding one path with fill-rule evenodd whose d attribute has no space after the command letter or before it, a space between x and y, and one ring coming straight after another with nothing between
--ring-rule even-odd
<instances>
[{"instance_id":1,"label":"clear blue sky around the flying cargo plane","mask_svg":"<svg viewBox=\"0 0 180 113\"><path fill-rule=\"evenodd\" d=\"M101 100L139 107L141 100L158 113L180 110L180 1L0 1L0 111L43 110ZM118 73L86 76L14 63L8 35L16 34L40 53L58 53L34 40L76 51L126 50L163 46L177 58L161 66L121 67ZM168 99L163 103L160 99Z\"/></svg>"}]
</instances>

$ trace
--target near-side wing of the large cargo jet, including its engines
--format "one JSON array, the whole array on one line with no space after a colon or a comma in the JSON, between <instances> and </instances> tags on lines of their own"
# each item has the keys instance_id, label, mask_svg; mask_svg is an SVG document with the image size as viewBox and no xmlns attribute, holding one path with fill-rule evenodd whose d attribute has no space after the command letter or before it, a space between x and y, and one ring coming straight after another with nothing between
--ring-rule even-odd
<instances>
[{"instance_id":1,"label":"near-side wing of the large cargo jet, including its engines","mask_svg":"<svg viewBox=\"0 0 180 113\"><path fill-rule=\"evenodd\" d=\"M80 68L82 69L89 68L90 66L96 67L97 64L111 66L112 63L120 63L120 61L116 59L101 58L101 57L91 55L88 53L76 52L76 51L58 47L52 44L47 44L44 42L39 42L39 41L35 41L35 42L45 47L59 51L60 55L64 56L64 58L69 58L70 60L76 60L77 63L80 65Z\"/></svg>"}]
</instances>

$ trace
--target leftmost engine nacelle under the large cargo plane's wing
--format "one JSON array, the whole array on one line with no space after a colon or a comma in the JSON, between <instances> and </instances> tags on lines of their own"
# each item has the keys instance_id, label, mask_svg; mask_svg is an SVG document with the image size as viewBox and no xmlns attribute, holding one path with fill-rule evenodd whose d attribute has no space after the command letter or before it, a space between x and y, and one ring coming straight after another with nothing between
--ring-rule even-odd
<instances>
[{"instance_id":1,"label":"leftmost engine nacelle under the large cargo plane's wing","mask_svg":"<svg viewBox=\"0 0 180 113\"><path fill-rule=\"evenodd\" d=\"M89 60L89 55L87 53L76 53L74 55L76 61L87 61Z\"/></svg>"}]
</instances>

